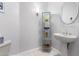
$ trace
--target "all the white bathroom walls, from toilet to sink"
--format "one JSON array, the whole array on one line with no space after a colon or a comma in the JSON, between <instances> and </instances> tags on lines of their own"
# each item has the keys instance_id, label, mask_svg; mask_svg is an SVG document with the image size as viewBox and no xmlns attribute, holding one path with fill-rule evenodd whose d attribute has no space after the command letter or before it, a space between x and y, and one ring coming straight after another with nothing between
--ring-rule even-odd
<instances>
[{"instance_id":1,"label":"all the white bathroom walls, from toilet to sink","mask_svg":"<svg viewBox=\"0 0 79 59\"><path fill-rule=\"evenodd\" d=\"M59 14L61 13L62 2L20 3L20 9L19 3L5 3L5 13L0 14L0 32L4 35L5 40L12 40L10 54L18 53L19 49L24 51L39 47L39 21L41 16L36 16L33 10L35 4L40 6L40 11L48 10L54 14L52 15L52 33L53 31L64 32L67 30L79 36L79 20L69 26L60 21ZM60 42L53 40L53 47L60 49ZM79 40L71 47L71 55L79 55L78 50Z\"/></svg>"}]
</instances>

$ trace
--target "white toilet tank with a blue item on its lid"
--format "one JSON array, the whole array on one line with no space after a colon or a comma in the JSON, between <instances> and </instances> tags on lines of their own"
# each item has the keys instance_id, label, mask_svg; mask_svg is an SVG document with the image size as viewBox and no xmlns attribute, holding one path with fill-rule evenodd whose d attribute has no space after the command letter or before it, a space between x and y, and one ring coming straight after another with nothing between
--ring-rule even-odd
<instances>
[{"instance_id":1,"label":"white toilet tank with a blue item on its lid","mask_svg":"<svg viewBox=\"0 0 79 59\"><path fill-rule=\"evenodd\" d=\"M11 41L7 40L0 44L0 56L8 56L10 51Z\"/></svg>"}]
</instances>

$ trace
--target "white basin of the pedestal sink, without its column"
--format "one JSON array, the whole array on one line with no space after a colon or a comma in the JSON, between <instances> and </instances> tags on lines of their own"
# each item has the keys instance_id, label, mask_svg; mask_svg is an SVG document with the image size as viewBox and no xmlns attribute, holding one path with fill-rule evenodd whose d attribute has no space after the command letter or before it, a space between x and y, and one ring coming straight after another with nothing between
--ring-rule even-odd
<instances>
[{"instance_id":1,"label":"white basin of the pedestal sink, without its column","mask_svg":"<svg viewBox=\"0 0 79 59\"><path fill-rule=\"evenodd\" d=\"M77 39L76 35L69 35L63 33L54 33L56 39L61 40L63 42L74 42Z\"/></svg>"}]
</instances>

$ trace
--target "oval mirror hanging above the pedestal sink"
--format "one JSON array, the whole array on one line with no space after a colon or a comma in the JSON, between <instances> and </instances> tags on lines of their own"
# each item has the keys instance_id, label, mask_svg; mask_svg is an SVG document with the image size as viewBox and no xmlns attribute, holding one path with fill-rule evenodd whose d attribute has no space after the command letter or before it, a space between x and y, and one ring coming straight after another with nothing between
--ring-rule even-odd
<instances>
[{"instance_id":1,"label":"oval mirror hanging above the pedestal sink","mask_svg":"<svg viewBox=\"0 0 79 59\"><path fill-rule=\"evenodd\" d=\"M74 23L78 15L78 3L65 2L61 11L61 19L65 24Z\"/></svg>"}]
</instances>

